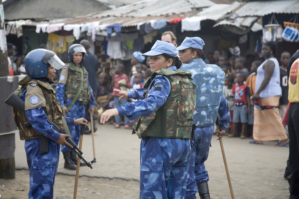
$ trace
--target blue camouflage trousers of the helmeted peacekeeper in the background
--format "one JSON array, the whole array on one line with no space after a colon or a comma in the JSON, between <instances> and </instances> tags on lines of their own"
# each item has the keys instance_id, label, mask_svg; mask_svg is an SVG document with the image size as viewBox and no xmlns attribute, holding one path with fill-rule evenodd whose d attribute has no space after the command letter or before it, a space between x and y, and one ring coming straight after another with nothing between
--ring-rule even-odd
<instances>
[{"instance_id":1,"label":"blue camouflage trousers of the helmeted peacekeeper in the background","mask_svg":"<svg viewBox=\"0 0 299 199\"><path fill-rule=\"evenodd\" d=\"M67 107L70 106L71 102L72 102L71 99L67 99L67 101L66 101ZM71 110L68 113L66 113L66 116L69 117L69 118L74 118L74 119L84 118L84 116L85 116L85 105L82 104L80 101L76 101L74 106L71 108ZM77 126L78 125L68 126L68 130L71 133L72 141L76 145L78 145L79 140L80 140L80 129L81 129L81 126L79 125L78 126L79 127L79 133L77 133L76 132L76 127ZM66 147L66 145L61 147L62 152L67 152L69 150L70 149L68 149L68 147Z\"/></svg>"}]
</instances>

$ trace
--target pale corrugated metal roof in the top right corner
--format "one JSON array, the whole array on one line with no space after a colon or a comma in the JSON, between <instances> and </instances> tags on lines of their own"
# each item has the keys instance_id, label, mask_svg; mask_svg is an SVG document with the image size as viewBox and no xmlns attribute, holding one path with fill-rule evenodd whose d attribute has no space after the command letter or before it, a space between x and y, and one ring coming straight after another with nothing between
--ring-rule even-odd
<instances>
[{"instance_id":1,"label":"pale corrugated metal roof in the top right corner","mask_svg":"<svg viewBox=\"0 0 299 199\"><path fill-rule=\"evenodd\" d=\"M239 16L265 16L271 13L299 13L299 0L249 1L236 11Z\"/></svg>"}]
</instances>

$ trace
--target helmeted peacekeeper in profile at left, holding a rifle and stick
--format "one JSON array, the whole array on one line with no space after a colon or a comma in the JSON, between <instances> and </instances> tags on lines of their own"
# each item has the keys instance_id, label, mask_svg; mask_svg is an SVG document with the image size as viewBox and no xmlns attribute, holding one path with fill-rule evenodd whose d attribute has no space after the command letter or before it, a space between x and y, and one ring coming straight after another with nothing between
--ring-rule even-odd
<instances>
[{"instance_id":1,"label":"helmeted peacekeeper in profile at left, holding a rifle and stick","mask_svg":"<svg viewBox=\"0 0 299 199\"><path fill-rule=\"evenodd\" d=\"M56 72L64 63L54 52L45 49L32 50L24 60L27 75L19 82L15 94L25 101L25 112L13 109L20 139L25 140L25 151L30 175L28 198L53 198L55 175L58 168L60 144L68 145L65 138L48 124L47 118L61 129L67 125L81 125L84 118L74 120L64 116L61 104L51 88ZM31 126L26 127L29 121ZM48 148L41 139L48 140ZM41 147L41 148L40 148ZM71 146L72 147L72 146Z\"/></svg>"}]
</instances>

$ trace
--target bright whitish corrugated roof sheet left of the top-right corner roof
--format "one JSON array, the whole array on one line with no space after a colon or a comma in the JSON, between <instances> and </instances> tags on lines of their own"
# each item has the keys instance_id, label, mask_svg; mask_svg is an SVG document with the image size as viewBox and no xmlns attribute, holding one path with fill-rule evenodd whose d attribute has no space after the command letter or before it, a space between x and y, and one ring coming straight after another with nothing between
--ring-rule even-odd
<instances>
[{"instance_id":1,"label":"bright whitish corrugated roof sheet left of the top-right corner roof","mask_svg":"<svg viewBox=\"0 0 299 199\"><path fill-rule=\"evenodd\" d=\"M215 4L211 7L204 8L197 16L206 16L207 19L218 21L227 13L237 9L241 3L235 1L233 4Z\"/></svg>"}]
</instances>

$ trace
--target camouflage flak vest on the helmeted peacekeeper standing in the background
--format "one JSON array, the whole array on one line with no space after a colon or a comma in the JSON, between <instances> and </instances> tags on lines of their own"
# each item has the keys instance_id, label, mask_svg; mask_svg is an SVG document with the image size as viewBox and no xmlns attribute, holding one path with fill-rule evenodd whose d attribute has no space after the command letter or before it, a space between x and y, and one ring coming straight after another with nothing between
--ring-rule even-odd
<instances>
[{"instance_id":1,"label":"camouflage flak vest on the helmeted peacekeeper standing in the background","mask_svg":"<svg viewBox=\"0 0 299 199\"><path fill-rule=\"evenodd\" d=\"M81 83L81 70L79 67L68 63L65 65L69 68L68 70L68 79L65 85L65 95L68 99L73 99L78 92L78 88ZM82 91L77 99L77 101L88 102L91 96L91 91L87 81L87 70L83 69L83 80L82 80Z\"/></svg>"}]
</instances>

